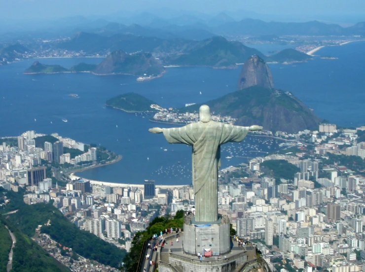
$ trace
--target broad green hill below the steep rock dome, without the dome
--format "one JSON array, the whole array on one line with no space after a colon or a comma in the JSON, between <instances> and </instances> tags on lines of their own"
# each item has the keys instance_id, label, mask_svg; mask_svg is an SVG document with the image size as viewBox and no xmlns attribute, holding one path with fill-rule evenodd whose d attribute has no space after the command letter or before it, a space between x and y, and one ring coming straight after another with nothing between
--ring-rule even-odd
<instances>
[{"instance_id":1,"label":"broad green hill below the steep rock dome, without the dome","mask_svg":"<svg viewBox=\"0 0 365 272\"><path fill-rule=\"evenodd\" d=\"M264 130L296 133L315 130L321 119L292 93L252 86L183 110L198 111L207 104L211 112L236 118L236 125L260 125Z\"/></svg>"}]
</instances>

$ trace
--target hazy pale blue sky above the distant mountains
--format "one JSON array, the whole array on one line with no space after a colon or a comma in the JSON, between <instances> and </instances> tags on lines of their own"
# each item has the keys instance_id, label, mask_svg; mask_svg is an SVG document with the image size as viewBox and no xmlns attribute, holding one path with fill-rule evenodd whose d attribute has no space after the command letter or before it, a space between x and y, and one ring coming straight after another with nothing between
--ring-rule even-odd
<instances>
[{"instance_id":1,"label":"hazy pale blue sky above the distant mountains","mask_svg":"<svg viewBox=\"0 0 365 272\"><path fill-rule=\"evenodd\" d=\"M164 15L168 17L168 9L203 13L244 9L276 15L351 15L365 13L365 0L0 0L1 19L100 16L148 10L165 10Z\"/></svg>"}]
</instances>

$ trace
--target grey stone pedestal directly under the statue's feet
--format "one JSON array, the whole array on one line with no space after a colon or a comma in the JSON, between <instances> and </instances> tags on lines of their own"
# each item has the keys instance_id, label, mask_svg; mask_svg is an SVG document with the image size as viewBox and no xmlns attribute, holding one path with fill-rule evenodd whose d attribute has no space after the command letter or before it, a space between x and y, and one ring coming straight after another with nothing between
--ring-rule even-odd
<instances>
[{"instance_id":1,"label":"grey stone pedestal directly under the statue's feet","mask_svg":"<svg viewBox=\"0 0 365 272\"><path fill-rule=\"evenodd\" d=\"M204 255L204 249L212 249L213 256L225 254L231 250L229 237L229 219L219 215L217 222L195 222L194 216L184 217L183 252Z\"/></svg>"}]
</instances>

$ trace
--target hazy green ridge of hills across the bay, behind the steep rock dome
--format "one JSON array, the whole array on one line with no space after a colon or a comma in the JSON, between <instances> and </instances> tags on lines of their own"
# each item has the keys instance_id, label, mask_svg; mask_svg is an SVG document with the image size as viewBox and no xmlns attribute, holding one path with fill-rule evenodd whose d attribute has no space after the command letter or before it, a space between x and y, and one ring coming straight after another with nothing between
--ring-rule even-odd
<instances>
[{"instance_id":1,"label":"hazy green ridge of hills across the bay, behind the steep rock dome","mask_svg":"<svg viewBox=\"0 0 365 272\"><path fill-rule=\"evenodd\" d=\"M237 63L244 63L252 55L280 63L311 59L310 56L294 49L287 49L271 57L266 57L254 48L245 46L238 41L228 41L221 36L196 41L178 38L159 39L128 34L102 36L78 33L71 40L60 43L58 46L71 51L82 50L89 54L102 54L118 50L118 48L125 52L152 52L159 56L164 65L214 68L235 67Z\"/></svg>"}]
</instances>

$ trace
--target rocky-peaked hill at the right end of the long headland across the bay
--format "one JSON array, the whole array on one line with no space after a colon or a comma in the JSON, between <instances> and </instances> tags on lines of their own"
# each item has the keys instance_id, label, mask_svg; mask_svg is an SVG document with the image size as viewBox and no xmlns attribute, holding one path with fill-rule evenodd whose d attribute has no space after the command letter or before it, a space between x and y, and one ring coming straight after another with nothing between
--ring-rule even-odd
<instances>
[{"instance_id":1,"label":"rocky-peaked hill at the right end of the long headland across the bay","mask_svg":"<svg viewBox=\"0 0 365 272\"><path fill-rule=\"evenodd\" d=\"M161 63L150 53L129 55L117 50L106 57L93 70L95 74L131 74L138 76L159 76L164 72Z\"/></svg>"}]
</instances>

